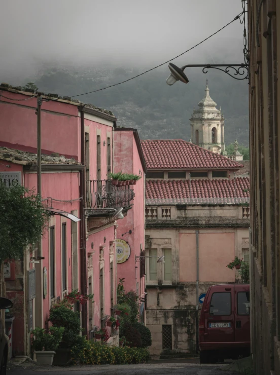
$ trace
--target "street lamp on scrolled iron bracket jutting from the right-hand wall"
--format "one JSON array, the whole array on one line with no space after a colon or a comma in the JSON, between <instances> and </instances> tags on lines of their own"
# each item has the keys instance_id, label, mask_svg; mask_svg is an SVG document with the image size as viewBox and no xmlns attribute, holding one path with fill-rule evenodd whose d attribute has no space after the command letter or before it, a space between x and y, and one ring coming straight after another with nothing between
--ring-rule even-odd
<instances>
[{"instance_id":1,"label":"street lamp on scrolled iron bracket jutting from the right-hand wall","mask_svg":"<svg viewBox=\"0 0 280 375\"><path fill-rule=\"evenodd\" d=\"M211 68L218 69L228 74L230 77L234 78L235 80L239 80L239 81L249 79L248 64L244 64L244 63L242 64L190 64L190 65L184 65L182 66L182 68L179 68L175 64L172 64L172 62L169 62L168 68L170 70L170 76L166 80L167 85L169 86L174 85L174 83L176 83L177 81L188 83L189 80L186 74L184 73L184 69L189 68L189 67L201 67L203 68L202 69L203 73L207 73L208 69L211 69Z\"/></svg>"}]
</instances>

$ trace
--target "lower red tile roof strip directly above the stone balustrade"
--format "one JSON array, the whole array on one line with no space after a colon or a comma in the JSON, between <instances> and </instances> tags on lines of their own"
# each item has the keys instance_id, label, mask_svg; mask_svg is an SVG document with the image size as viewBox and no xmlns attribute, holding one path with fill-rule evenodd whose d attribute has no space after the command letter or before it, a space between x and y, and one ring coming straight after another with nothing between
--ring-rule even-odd
<instances>
[{"instance_id":1,"label":"lower red tile roof strip directly above the stone balustrade","mask_svg":"<svg viewBox=\"0 0 280 375\"><path fill-rule=\"evenodd\" d=\"M201 203L218 199L228 203L249 201L249 177L236 179L195 179L191 180L147 180L146 202L153 203L188 203L189 199L202 199ZM236 192L236 193L235 193ZM214 203L215 203L214 202Z\"/></svg>"}]
</instances>

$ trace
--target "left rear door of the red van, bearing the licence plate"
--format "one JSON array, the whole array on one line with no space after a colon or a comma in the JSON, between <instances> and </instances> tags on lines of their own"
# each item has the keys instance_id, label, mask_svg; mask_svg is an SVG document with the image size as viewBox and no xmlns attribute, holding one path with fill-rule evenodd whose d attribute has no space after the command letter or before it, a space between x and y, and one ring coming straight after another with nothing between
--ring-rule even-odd
<instances>
[{"instance_id":1,"label":"left rear door of the red van, bearing the licence plate","mask_svg":"<svg viewBox=\"0 0 280 375\"><path fill-rule=\"evenodd\" d=\"M213 286L207 298L204 315L205 342L234 342L234 286Z\"/></svg>"}]
</instances>

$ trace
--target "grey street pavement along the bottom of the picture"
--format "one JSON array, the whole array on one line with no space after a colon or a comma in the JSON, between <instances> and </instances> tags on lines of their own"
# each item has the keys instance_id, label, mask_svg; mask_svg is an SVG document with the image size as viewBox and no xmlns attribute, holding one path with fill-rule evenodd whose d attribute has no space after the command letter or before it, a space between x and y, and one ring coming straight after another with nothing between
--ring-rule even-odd
<instances>
[{"instance_id":1,"label":"grey street pavement along the bottom of the picture","mask_svg":"<svg viewBox=\"0 0 280 375\"><path fill-rule=\"evenodd\" d=\"M197 361L197 360L195 360ZM194 361L193 361L194 362ZM9 364L7 375L237 375L237 372L223 370L224 365L184 363L154 363L138 365L103 365L103 366L38 366L34 362Z\"/></svg>"}]
</instances>

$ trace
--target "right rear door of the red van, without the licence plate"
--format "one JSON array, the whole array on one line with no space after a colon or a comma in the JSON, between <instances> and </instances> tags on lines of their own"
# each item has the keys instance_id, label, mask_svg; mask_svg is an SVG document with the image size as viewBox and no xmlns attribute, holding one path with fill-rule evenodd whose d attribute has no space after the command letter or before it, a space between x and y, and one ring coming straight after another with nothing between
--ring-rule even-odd
<instances>
[{"instance_id":1,"label":"right rear door of the red van, without the licence plate","mask_svg":"<svg viewBox=\"0 0 280 375\"><path fill-rule=\"evenodd\" d=\"M234 285L235 341L250 342L250 287L249 284Z\"/></svg>"}]
</instances>

